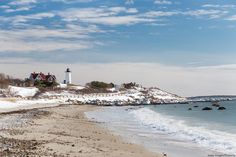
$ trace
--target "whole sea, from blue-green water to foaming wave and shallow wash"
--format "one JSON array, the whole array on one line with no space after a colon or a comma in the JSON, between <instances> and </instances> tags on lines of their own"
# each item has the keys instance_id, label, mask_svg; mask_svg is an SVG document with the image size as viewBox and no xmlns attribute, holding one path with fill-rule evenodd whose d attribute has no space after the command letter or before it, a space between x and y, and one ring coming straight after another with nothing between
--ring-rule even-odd
<instances>
[{"instance_id":1,"label":"whole sea, from blue-green water to foaming wave and shallow wash","mask_svg":"<svg viewBox=\"0 0 236 157\"><path fill-rule=\"evenodd\" d=\"M127 142L171 157L236 155L236 101L191 104L103 107L88 118L120 135ZM212 107L211 111L203 111ZM191 108L192 110L189 110Z\"/></svg>"}]
</instances>

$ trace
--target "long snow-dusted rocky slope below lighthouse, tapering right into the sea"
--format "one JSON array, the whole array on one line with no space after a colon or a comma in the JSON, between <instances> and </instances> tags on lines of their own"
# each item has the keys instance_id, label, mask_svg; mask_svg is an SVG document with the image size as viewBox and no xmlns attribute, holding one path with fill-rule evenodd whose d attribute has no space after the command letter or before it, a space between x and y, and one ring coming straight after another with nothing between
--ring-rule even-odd
<instances>
[{"instance_id":1,"label":"long snow-dusted rocky slope below lighthouse, tapering right into the sea","mask_svg":"<svg viewBox=\"0 0 236 157\"><path fill-rule=\"evenodd\" d=\"M125 91L110 93L78 94L73 91L50 91L40 95L41 98L58 99L64 102L72 101L82 104L98 105L128 105L128 104L160 104L186 101L177 95L162 91L158 88L137 87Z\"/></svg>"}]
</instances>

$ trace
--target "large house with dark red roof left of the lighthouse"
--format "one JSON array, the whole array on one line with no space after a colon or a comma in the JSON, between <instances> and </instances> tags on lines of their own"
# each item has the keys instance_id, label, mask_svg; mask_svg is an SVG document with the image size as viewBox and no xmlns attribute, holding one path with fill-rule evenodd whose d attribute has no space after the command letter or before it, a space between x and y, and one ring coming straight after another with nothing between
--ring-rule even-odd
<instances>
[{"instance_id":1,"label":"large house with dark red roof left of the lighthouse","mask_svg":"<svg viewBox=\"0 0 236 157\"><path fill-rule=\"evenodd\" d=\"M42 72L40 73L33 72L30 74L29 80L31 80L32 82L35 82L35 81L56 82L56 76L51 75L50 73L45 75Z\"/></svg>"}]
</instances>

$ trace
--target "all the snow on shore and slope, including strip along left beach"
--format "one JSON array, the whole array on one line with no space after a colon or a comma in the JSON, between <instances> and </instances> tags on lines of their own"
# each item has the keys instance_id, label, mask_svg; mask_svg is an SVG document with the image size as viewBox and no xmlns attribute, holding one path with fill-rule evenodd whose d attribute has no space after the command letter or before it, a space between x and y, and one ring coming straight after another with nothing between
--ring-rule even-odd
<instances>
[{"instance_id":1,"label":"all the snow on shore and slope, including strip along left beach","mask_svg":"<svg viewBox=\"0 0 236 157\"><path fill-rule=\"evenodd\" d=\"M83 86L73 86L83 89ZM65 88L41 93L32 98L39 90L35 87L9 86L3 91L7 98L0 99L0 112L4 109L23 109L33 107L57 106L60 104L95 104L95 105L138 105L186 102L185 98L162 91L158 88L134 87L132 89L112 91L109 93L82 94L76 90ZM20 98L13 98L20 96Z\"/></svg>"}]
</instances>

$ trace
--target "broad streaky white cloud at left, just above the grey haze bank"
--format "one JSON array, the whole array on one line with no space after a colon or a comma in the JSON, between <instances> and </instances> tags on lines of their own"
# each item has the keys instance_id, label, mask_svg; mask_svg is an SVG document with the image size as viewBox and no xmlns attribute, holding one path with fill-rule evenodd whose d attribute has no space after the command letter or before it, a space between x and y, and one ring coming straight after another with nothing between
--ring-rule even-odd
<instances>
[{"instance_id":1,"label":"broad streaky white cloud at left, just above the grey haze bank","mask_svg":"<svg viewBox=\"0 0 236 157\"><path fill-rule=\"evenodd\" d=\"M55 52L78 51L97 45L91 33L103 33L98 27L67 25L65 29L35 27L28 29L0 30L1 52ZM101 42L100 42L101 43Z\"/></svg>"}]
</instances>

